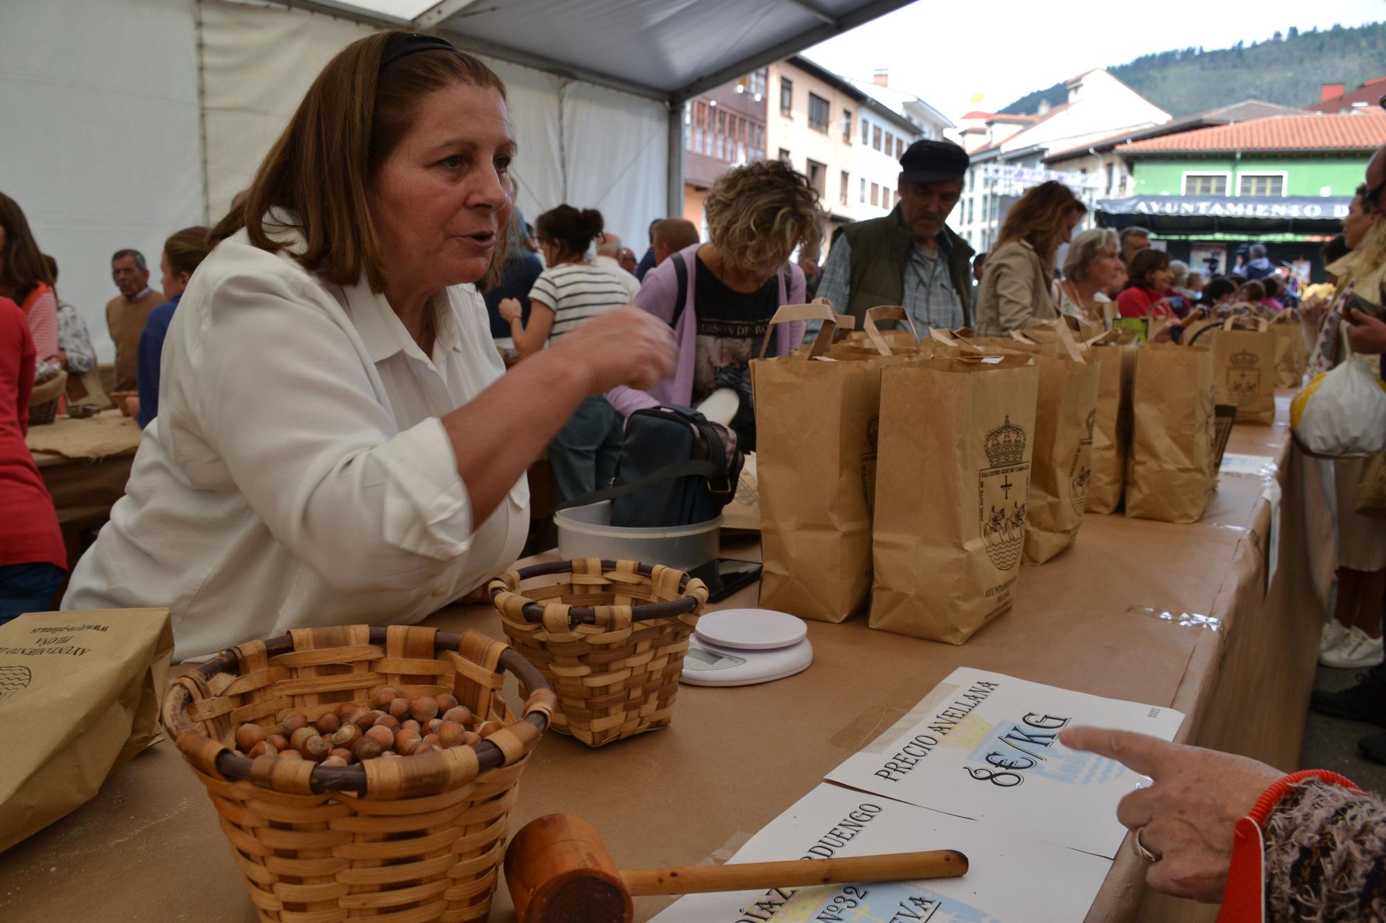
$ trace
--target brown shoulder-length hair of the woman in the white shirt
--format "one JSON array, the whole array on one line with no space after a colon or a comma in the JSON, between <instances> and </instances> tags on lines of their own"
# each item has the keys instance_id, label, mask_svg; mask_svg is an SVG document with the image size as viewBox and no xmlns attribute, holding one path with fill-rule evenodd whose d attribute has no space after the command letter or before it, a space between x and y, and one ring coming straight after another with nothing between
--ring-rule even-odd
<instances>
[{"instance_id":1,"label":"brown shoulder-length hair of the woman in the white shirt","mask_svg":"<svg viewBox=\"0 0 1386 923\"><path fill-rule=\"evenodd\" d=\"M381 67L409 35L381 32L359 39L327 62L240 204L212 229L213 245L245 227L255 247L284 249L287 244L273 240L259 220L279 208L294 216L294 229L304 237L304 251L294 255L299 265L340 285L356 284L365 272L371 290L384 291L380 237L367 193L380 165L409 132L419 103L456 83L506 97L495 71L456 49L430 47ZM505 258L506 236L500 234L478 288L499 280Z\"/></svg>"}]
</instances>

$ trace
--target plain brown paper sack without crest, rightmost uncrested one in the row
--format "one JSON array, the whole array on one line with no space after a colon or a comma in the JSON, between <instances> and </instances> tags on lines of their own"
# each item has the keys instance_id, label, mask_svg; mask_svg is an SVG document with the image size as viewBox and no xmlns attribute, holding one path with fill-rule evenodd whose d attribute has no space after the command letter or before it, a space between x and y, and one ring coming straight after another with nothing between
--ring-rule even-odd
<instances>
[{"instance_id":1,"label":"plain brown paper sack without crest, rightmost uncrested one in the row","mask_svg":"<svg viewBox=\"0 0 1386 923\"><path fill-rule=\"evenodd\" d=\"M1213 495L1213 351L1155 344L1135 360L1125 514L1198 522Z\"/></svg>"}]
</instances>

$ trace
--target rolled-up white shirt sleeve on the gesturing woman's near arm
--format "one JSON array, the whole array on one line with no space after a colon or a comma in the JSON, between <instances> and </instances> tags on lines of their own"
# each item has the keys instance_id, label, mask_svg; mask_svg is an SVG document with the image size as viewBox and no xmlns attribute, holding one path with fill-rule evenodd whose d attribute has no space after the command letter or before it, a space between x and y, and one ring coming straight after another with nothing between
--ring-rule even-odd
<instances>
[{"instance_id":1,"label":"rolled-up white shirt sleeve on the gesturing woman's near arm","mask_svg":"<svg viewBox=\"0 0 1386 923\"><path fill-rule=\"evenodd\" d=\"M471 502L442 421L398 431L326 292L248 273L213 285L180 383L195 420L170 421L175 443L200 431L276 540L341 589L410 586L466 553Z\"/></svg>"}]
</instances>

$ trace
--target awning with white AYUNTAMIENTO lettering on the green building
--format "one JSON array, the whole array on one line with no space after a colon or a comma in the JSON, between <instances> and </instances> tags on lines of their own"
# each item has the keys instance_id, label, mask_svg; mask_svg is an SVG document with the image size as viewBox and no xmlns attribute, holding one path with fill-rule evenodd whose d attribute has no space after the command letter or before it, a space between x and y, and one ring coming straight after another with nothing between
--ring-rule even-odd
<instances>
[{"instance_id":1,"label":"awning with white AYUNTAMIENTO lettering on the green building","mask_svg":"<svg viewBox=\"0 0 1386 923\"><path fill-rule=\"evenodd\" d=\"M1098 200L1098 225L1163 234L1335 234L1351 198L1295 195L1131 195Z\"/></svg>"}]
</instances>

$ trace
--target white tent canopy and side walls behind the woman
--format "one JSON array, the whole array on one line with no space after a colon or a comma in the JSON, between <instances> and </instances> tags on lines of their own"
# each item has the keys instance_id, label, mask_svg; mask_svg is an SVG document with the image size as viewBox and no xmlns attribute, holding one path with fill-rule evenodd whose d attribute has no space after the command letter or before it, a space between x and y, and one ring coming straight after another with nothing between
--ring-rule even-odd
<instances>
[{"instance_id":1,"label":"white tent canopy and side walls behind the woman","mask_svg":"<svg viewBox=\"0 0 1386 923\"><path fill-rule=\"evenodd\" d=\"M427 28L505 79L525 215L597 208L639 251L682 211L685 98L906 1L0 0L0 191L109 358L111 254L158 287L164 240L225 213L328 58Z\"/></svg>"}]
</instances>

